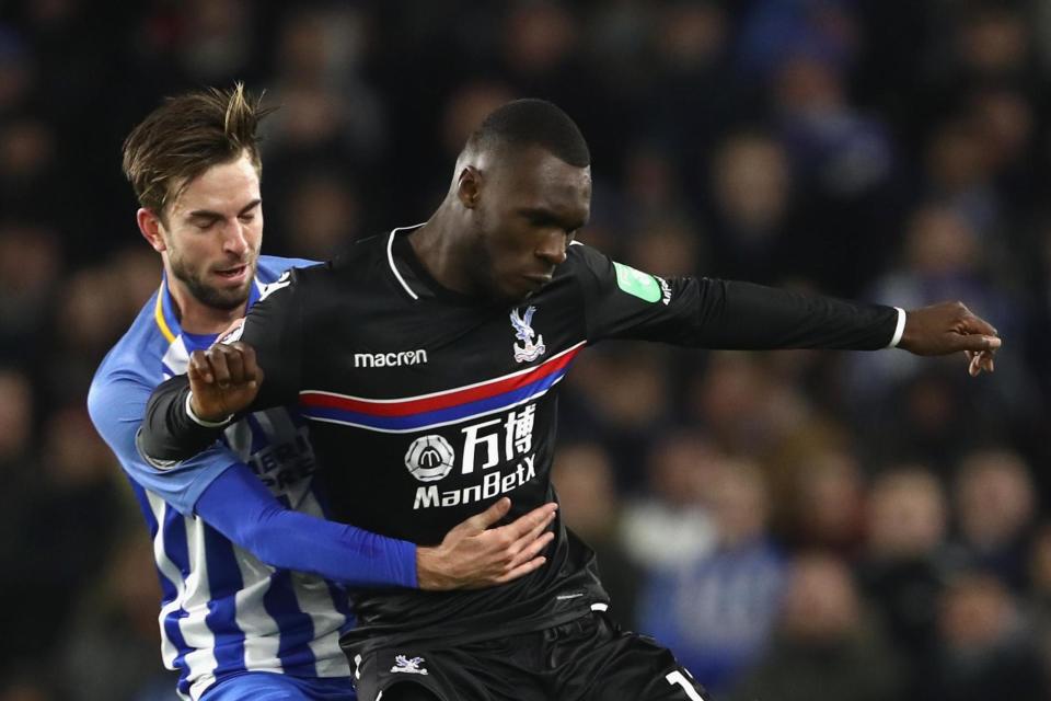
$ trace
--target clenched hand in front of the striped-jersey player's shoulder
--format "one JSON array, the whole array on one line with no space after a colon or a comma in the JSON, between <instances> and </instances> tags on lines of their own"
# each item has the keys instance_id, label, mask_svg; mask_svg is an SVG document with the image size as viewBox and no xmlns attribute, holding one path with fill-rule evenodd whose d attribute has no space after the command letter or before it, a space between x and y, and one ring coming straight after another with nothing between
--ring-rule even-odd
<instances>
[{"instance_id":1,"label":"clenched hand in front of the striped-jersey player's shoulder","mask_svg":"<svg viewBox=\"0 0 1051 701\"><path fill-rule=\"evenodd\" d=\"M204 421L222 421L249 406L263 383L255 350L240 341L194 350L186 375L193 392L190 409Z\"/></svg>"}]
</instances>

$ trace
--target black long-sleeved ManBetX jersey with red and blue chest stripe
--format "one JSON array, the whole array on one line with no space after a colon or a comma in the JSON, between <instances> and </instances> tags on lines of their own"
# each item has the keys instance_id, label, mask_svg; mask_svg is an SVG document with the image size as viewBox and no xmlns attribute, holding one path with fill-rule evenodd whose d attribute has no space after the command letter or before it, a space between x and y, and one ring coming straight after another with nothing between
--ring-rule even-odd
<instances>
[{"instance_id":1,"label":"black long-sleeved ManBetX jersey with red and blue chest stripe","mask_svg":"<svg viewBox=\"0 0 1051 701\"><path fill-rule=\"evenodd\" d=\"M405 230L268 286L242 340L265 370L251 407L298 406L311 421L334 517L437 544L501 496L508 519L555 499L550 480L557 389L577 355L604 338L707 348L855 348L889 344L898 314L707 278L665 279L571 245L552 283L517 306L439 286ZM177 460L218 429L190 422L185 377L153 394L140 449ZM363 653L408 640L472 640L539 630L603 608L591 551L556 520L547 562L471 591L353 594Z\"/></svg>"}]
</instances>

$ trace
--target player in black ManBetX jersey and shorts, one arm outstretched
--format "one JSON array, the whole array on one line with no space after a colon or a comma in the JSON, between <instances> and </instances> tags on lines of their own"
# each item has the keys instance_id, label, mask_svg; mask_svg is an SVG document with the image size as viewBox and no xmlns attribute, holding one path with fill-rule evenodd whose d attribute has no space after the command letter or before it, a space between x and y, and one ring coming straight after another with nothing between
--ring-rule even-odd
<instances>
[{"instance_id":1,"label":"player in black ManBetX jersey and shorts, one arm outstretched","mask_svg":"<svg viewBox=\"0 0 1051 701\"><path fill-rule=\"evenodd\" d=\"M590 156L554 105L509 103L461 153L424 225L268 286L242 326L151 399L140 450L185 459L245 411L311 420L334 517L434 542L508 495L554 499L557 383L586 346L898 346L993 369L995 330L962 304L904 312L708 278L661 278L574 241ZM354 593L345 636L363 701L691 700L672 654L619 630L591 551L561 522L544 566L472 591Z\"/></svg>"}]
</instances>

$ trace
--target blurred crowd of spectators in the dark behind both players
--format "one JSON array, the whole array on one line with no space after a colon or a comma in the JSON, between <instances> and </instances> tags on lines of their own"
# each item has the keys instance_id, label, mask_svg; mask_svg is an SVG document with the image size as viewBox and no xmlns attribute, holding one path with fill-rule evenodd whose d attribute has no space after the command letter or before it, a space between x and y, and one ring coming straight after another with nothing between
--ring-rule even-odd
<instances>
[{"instance_id":1,"label":"blurred crowd of spectators in the dark behind both players","mask_svg":"<svg viewBox=\"0 0 1051 701\"><path fill-rule=\"evenodd\" d=\"M174 698L84 400L160 279L120 143L234 80L280 105L264 252L421 221L481 117L540 96L591 145L580 238L617 260L989 319L978 379L600 345L555 483L611 611L716 699L1051 699L1051 3L117 4L0 4L0 700Z\"/></svg>"}]
</instances>

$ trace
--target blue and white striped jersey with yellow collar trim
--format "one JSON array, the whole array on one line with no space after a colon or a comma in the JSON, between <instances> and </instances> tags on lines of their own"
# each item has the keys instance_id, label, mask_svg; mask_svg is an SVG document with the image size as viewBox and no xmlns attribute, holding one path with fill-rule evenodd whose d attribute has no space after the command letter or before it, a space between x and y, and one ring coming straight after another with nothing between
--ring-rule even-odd
<instances>
[{"instance_id":1,"label":"blue and white striped jersey with yellow collar trim","mask_svg":"<svg viewBox=\"0 0 1051 701\"><path fill-rule=\"evenodd\" d=\"M312 263L261 256L249 304L287 268L305 265ZM164 664L180 673L180 693L195 700L218 679L245 670L348 677L338 644L353 624L344 589L276 570L195 515L201 493L240 461L284 505L325 516L304 422L285 409L252 414L226 429L224 446L168 470L146 462L136 449L150 393L184 374L189 354L213 340L180 329L162 281L106 355L88 398L92 421L127 473L153 539Z\"/></svg>"}]
</instances>

